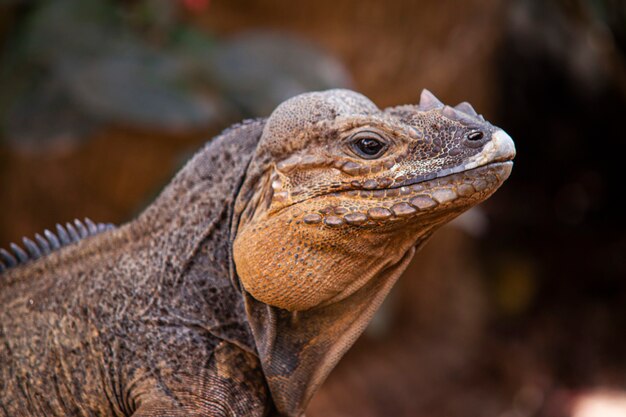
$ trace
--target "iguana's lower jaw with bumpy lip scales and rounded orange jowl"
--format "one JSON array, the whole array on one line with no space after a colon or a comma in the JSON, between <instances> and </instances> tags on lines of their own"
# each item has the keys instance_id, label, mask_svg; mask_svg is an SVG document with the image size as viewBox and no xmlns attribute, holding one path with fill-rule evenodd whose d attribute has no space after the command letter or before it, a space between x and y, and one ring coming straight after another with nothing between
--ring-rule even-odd
<instances>
[{"instance_id":1,"label":"iguana's lower jaw with bumpy lip scales and rounded orange jowl","mask_svg":"<svg viewBox=\"0 0 626 417\"><path fill-rule=\"evenodd\" d=\"M262 212L240 226L234 245L237 272L250 294L282 309L340 302L423 235L488 198L511 167L512 162L494 162L381 190L381 196L337 192L290 205L278 215Z\"/></svg>"}]
</instances>

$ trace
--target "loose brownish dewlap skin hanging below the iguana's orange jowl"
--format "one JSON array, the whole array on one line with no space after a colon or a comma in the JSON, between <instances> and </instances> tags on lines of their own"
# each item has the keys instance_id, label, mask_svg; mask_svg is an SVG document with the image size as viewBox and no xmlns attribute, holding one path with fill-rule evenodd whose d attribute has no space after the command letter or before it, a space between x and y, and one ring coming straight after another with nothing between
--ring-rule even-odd
<instances>
[{"instance_id":1,"label":"loose brownish dewlap skin hanging below the iguana's orange jowl","mask_svg":"<svg viewBox=\"0 0 626 417\"><path fill-rule=\"evenodd\" d=\"M263 372L277 409L288 416L306 406L339 359L363 333L417 246L341 303L289 312L245 294L246 310Z\"/></svg>"}]
</instances>

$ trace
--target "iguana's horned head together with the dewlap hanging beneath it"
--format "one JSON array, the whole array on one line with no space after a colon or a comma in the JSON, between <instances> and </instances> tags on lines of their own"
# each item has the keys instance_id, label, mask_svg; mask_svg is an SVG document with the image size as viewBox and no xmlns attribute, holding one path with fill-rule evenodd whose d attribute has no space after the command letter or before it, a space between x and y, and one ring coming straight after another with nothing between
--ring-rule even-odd
<instances>
[{"instance_id":1,"label":"iguana's horned head together with the dewlap hanging beneath it","mask_svg":"<svg viewBox=\"0 0 626 417\"><path fill-rule=\"evenodd\" d=\"M416 248L489 197L515 147L467 103L308 93L265 121L234 207L236 281L281 415L300 416Z\"/></svg>"}]
</instances>

